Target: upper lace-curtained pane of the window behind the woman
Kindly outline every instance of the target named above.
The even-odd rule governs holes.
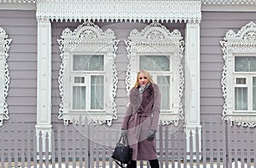
[[[140,69],[148,71],[170,71],[170,59],[166,55],[141,55]]]

